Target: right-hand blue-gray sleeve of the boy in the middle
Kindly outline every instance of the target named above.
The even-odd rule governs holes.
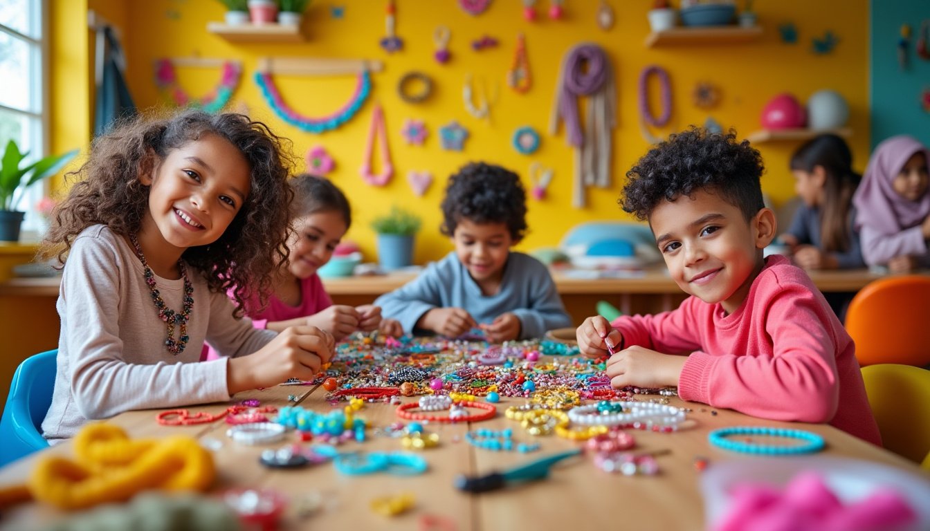
[[[549,269],[530,257],[522,265],[529,305],[513,311],[520,319],[520,339],[541,338],[546,330],[571,326],[571,317],[565,312]]]

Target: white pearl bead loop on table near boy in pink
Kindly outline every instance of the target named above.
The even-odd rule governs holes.
[[[684,421],[684,410],[671,405],[652,402],[617,402],[619,413],[600,413],[603,405],[581,405],[568,411],[573,424],[581,426],[618,426],[636,430],[670,432],[677,431]],[[598,413],[594,413],[598,412]]]

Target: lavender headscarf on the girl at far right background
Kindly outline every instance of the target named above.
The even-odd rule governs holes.
[[[930,152],[911,137],[900,135],[875,147],[862,177],[853,204],[856,205],[856,228],[868,226],[883,234],[901,232],[923,222],[930,214],[930,192],[918,201],[908,201],[891,187],[891,181],[914,153],[923,153],[930,164]]]

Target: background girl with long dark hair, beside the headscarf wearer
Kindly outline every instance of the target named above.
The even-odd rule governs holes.
[[[794,263],[804,269],[865,267],[859,235],[853,229],[853,192],[862,177],[853,171],[853,154],[844,139],[820,135],[791,156],[794,192],[801,205],[791,226],[778,239],[791,247]]]

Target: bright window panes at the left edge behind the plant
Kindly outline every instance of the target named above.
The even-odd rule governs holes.
[[[47,153],[45,4],[45,0],[0,0],[0,153],[14,139],[23,153],[30,153],[29,161]],[[35,205],[47,186],[47,181],[34,184],[16,206],[26,211],[23,241],[38,239],[45,228]]]

